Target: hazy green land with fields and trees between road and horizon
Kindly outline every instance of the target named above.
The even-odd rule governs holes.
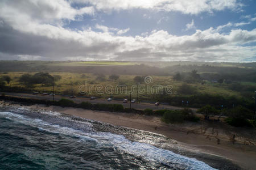
[[[126,85],[130,91],[134,84],[143,83],[143,75],[150,75],[152,82],[143,85],[149,85],[150,90],[152,86],[160,85],[164,92],[143,92],[139,94],[141,101],[196,108],[209,104],[216,109],[221,105],[224,109],[238,105],[250,111],[254,109],[252,96],[256,90],[256,63],[0,61],[0,71],[0,89],[3,92],[51,92],[55,83],[55,94],[71,95],[73,82],[73,95],[111,95],[123,99],[130,94],[99,95],[95,87],[105,89],[108,85]],[[79,94],[79,87],[85,82],[93,87],[92,91]],[[172,86],[171,94],[166,93],[167,86]],[[131,97],[136,96],[137,88],[131,94]],[[163,116],[165,111],[146,112]]]

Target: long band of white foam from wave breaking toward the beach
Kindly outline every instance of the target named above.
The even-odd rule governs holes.
[[[56,115],[56,114],[55,114]],[[0,116],[12,118],[14,121],[18,121],[22,124],[27,124],[38,128],[40,131],[49,131],[51,133],[59,133],[69,135],[71,137],[78,137],[78,142],[93,141],[100,147],[101,145],[111,145],[117,147],[119,150],[141,157],[148,161],[159,162],[162,164],[173,167],[185,167],[185,169],[214,169],[208,164],[201,162],[193,158],[187,158],[175,154],[169,150],[163,150],[161,148],[140,142],[132,142],[126,139],[123,135],[117,135],[113,133],[104,132],[84,132],[60,125],[52,125],[39,119],[30,119],[20,114],[11,112],[0,112]]]

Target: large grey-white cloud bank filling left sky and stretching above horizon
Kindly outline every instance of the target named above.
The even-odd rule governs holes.
[[[119,29],[96,24],[94,28],[100,30],[99,32],[94,31],[94,28],[72,30],[63,27],[65,20],[77,20],[82,15],[93,15],[92,11],[85,10],[87,7],[73,8],[67,1],[60,0],[20,0],[16,2],[18,5],[15,5],[15,2],[0,2],[0,59],[110,58],[234,62],[256,56],[256,47],[247,46],[256,42],[256,29],[246,31],[236,28],[221,33],[223,28],[236,27],[232,23],[217,28],[197,29],[192,35],[185,36],[175,36],[162,29],[143,33],[143,36],[123,36],[130,28]],[[148,6],[150,2],[148,1]],[[152,1],[159,2],[160,0]],[[183,3],[185,2],[187,1]],[[208,3],[213,2],[215,1]],[[35,4],[39,3],[43,3],[40,9],[35,7]],[[119,4],[118,1],[115,3]],[[52,10],[54,7],[56,10]],[[40,15],[35,14],[36,10]],[[195,24],[192,20],[188,28],[193,25]]]

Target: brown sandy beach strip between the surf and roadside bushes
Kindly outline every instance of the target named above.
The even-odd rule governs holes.
[[[199,155],[208,154],[217,156],[220,159],[225,158],[232,161],[234,164],[239,165],[243,169],[253,169],[256,166],[255,146],[246,146],[241,144],[232,145],[232,143],[226,141],[221,141],[221,144],[217,145],[217,142],[213,137],[209,140],[208,138],[205,138],[205,135],[188,133],[188,129],[195,126],[193,123],[187,123],[186,125],[167,125],[161,122],[159,117],[144,116],[135,113],[92,111],[79,108],[62,108],[58,106],[47,107],[45,105],[31,105],[25,107],[56,111],[68,114],[69,116],[86,118],[114,126],[133,128],[149,131],[155,134],[161,134],[172,139],[172,143],[174,143],[174,145],[191,151],[192,153],[196,152]],[[189,154],[187,155],[189,157]],[[184,156],[187,155],[185,154]],[[193,158],[194,155],[191,154],[190,156]],[[204,155],[201,156],[204,157]]]

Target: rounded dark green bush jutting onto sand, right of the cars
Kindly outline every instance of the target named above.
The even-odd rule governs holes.
[[[180,111],[166,111],[162,117],[162,121],[169,123],[174,122],[183,122],[184,121],[184,114],[182,114]]]

